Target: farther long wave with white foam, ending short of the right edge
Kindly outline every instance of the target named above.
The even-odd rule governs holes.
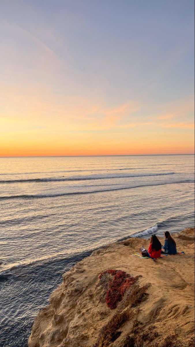
[[[58,178],[28,178],[28,179],[13,179],[0,180],[0,183],[24,183],[24,182],[56,182],[56,181],[80,181],[91,179],[109,179],[109,178],[125,178],[125,177],[147,177],[147,176],[164,176],[173,175],[175,172],[151,173],[151,174],[105,174],[105,175],[89,175],[89,176],[73,176],[73,177],[58,177]]]

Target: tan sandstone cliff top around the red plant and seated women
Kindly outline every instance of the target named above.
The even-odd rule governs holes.
[[[194,346],[194,228],[174,238],[184,255],[141,259],[132,254],[149,240],[130,238],[77,263],[38,313],[29,347]],[[98,285],[99,274],[108,269],[142,276],[114,310]],[[147,283],[147,294],[137,300]]]

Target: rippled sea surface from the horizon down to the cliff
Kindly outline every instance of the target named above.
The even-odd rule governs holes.
[[[0,158],[0,346],[93,249],[192,226],[194,155]]]

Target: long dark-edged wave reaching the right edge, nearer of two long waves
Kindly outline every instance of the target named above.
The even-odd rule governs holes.
[[[151,183],[151,184],[143,184],[139,186],[131,186],[131,187],[118,187],[118,188],[111,188],[111,189],[98,189],[94,191],[89,192],[71,192],[71,193],[60,193],[60,194],[22,194],[22,195],[7,195],[7,196],[0,196],[0,200],[3,199],[14,199],[14,198],[44,198],[44,197],[56,197],[56,196],[64,196],[64,195],[76,195],[76,194],[91,194],[91,193],[100,193],[100,192],[109,192],[109,191],[118,191],[121,189],[131,189],[131,188],[141,188],[141,187],[148,187],[148,186],[162,186],[165,184],[181,184],[181,183],[194,183],[194,180],[185,180],[185,181],[175,181],[175,182],[163,182],[163,183]]]

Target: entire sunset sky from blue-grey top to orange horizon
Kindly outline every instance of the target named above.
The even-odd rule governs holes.
[[[194,153],[194,1],[1,0],[0,156]]]

